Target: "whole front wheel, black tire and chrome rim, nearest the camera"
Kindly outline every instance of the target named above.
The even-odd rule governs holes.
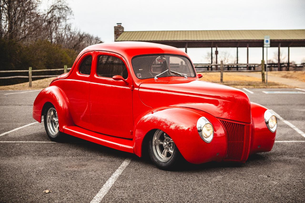
[[[162,130],[156,130],[149,138],[149,156],[163,170],[175,169],[183,159],[174,141]]]

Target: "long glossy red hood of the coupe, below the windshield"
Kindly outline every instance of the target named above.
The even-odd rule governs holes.
[[[251,123],[248,96],[239,89],[194,78],[170,78],[144,82],[141,101],[152,108],[180,106],[208,112],[215,117]]]

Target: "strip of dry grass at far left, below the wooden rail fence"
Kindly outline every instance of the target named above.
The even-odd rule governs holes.
[[[14,85],[0,86],[0,90],[40,90],[48,87],[54,78],[55,77],[34,80],[32,81],[32,87],[29,87],[29,82],[26,82]]]

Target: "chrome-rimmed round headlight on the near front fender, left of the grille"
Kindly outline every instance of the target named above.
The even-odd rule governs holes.
[[[210,143],[213,139],[214,135],[214,129],[213,125],[210,123],[206,117],[201,117],[197,121],[197,130],[199,133],[199,136],[203,141],[206,143]]]

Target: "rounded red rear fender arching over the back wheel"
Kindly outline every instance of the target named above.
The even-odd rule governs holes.
[[[66,126],[74,125],[68,108],[68,101],[63,91],[57,86],[49,86],[43,89],[36,97],[33,105],[33,118],[41,123],[43,107],[50,102],[54,105],[59,120],[59,131],[63,132]]]

